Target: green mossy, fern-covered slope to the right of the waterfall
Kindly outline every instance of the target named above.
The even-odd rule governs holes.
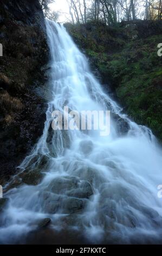
[[[121,22],[115,27],[91,22],[66,27],[129,116],[150,127],[162,141],[162,57],[157,54],[162,21]]]

